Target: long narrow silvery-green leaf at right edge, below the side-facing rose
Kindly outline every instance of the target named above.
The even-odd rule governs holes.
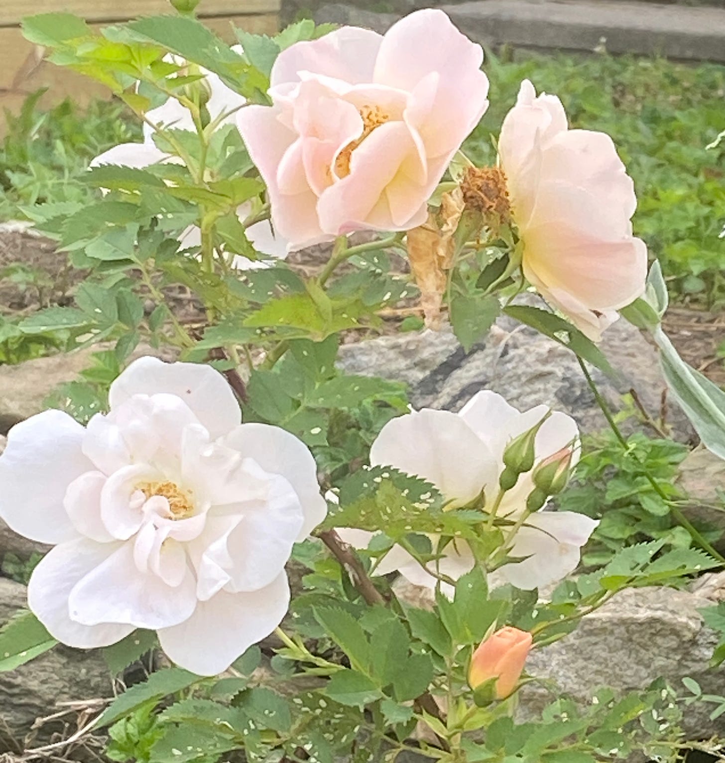
[[[682,360],[660,327],[653,337],[660,350],[669,391],[687,414],[703,445],[725,459],[725,392]]]

